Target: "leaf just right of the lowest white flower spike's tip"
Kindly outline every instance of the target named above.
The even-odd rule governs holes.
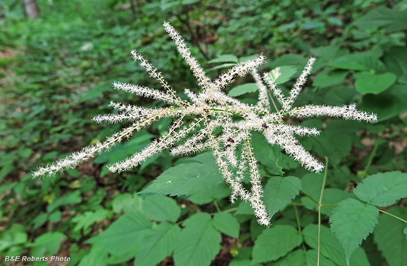
[[[301,189],[301,180],[295,176],[273,176],[264,188],[264,201],[270,217],[292,201]]]

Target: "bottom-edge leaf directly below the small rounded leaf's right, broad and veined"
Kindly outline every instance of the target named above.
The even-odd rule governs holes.
[[[207,266],[218,254],[222,238],[208,213],[198,213],[184,222],[185,228],[174,251],[177,266]]]

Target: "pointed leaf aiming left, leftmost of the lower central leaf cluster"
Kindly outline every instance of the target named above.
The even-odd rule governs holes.
[[[114,255],[124,255],[142,244],[144,233],[152,226],[153,223],[144,214],[129,212],[86,243],[98,244]]]

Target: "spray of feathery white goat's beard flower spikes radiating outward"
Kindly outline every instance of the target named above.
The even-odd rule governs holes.
[[[319,131],[315,128],[288,125],[282,120],[284,116],[310,117],[325,115],[342,119],[377,122],[375,114],[358,111],[355,105],[304,105],[293,108],[293,104],[315,62],[313,57],[309,59],[305,69],[290,91],[289,96],[285,97],[267,73],[263,75],[263,80],[258,74],[257,68],[265,61],[263,55],[258,55],[254,60],[248,60],[232,67],[212,81],[207,77],[196,59],[191,56],[191,52],[181,35],[168,22],[164,22],[164,28],[177,45],[181,56],[190,66],[202,90],[198,94],[185,90],[189,101],[183,100],[167,83],[157,68],[152,66],[136,50],[132,50],[130,53],[134,61],[139,62],[140,67],[146,70],[150,77],[160,82],[165,91],[153,90],[149,87],[119,81],[115,81],[113,87],[116,90],[163,101],[169,107],[146,108],[110,102],[110,106],[120,112],[99,114],[93,120],[97,123],[119,123],[128,120],[132,122],[129,127],[107,137],[103,142],[86,146],[81,151],[75,152],[65,159],[57,160],[45,167],[39,167],[33,173],[34,177],[50,176],[65,169],[74,168],[95,157],[100,152],[109,150],[115,143],[121,142],[124,138],[130,138],[134,131],[148,127],[162,117],[176,117],[165,134],[152,141],[133,156],[109,165],[108,169],[111,172],[128,170],[163,150],[169,150],[172,156],[179,156],[211,149],[219,170],[226,184],[231,189],[230,201],[234,202],[238,197],[245,201],[248,200],[254,209],[258,223],[269,226],[270,217],[261,199],[263,197],[261,176],[251,146],[252,131],[263,133],[270,144],[279,145],[289,156],[299,161],[306,169],[319,172],[324,168],[324,165],[308,153],[295,137],[295,135],[315,136],[319,134]],[[243,77],[248,73],[253,76],[259,91],[258,101],[255,105],[242,103],[237,99],[226,96],[221,91],[223,87],[233,82],[236,76]],[[269,88],[267,88],[265,83]],[[274,94],[281,105],[280,110],[277,109],[273,102],[276,111],[272,111],[270,100],[273,99],[269,98],[268,90]],[[186,123],[186,117],[191,116],[194,117],[192,122]],[[215,129],[218,127],[221,127],[223,131],[221,134],[215,135]],[[239,155],[237,155],[238,145],[241,145]],[[250,191],[242,184],[244,172],[247,171],[247,168],[250,172]]]

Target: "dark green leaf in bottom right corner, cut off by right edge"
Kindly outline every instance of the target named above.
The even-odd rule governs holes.
[[[395,207],[387,210],[387,212],[407,220],[406,208]],[[405,266],[406,264],[407,239],[406,235],[403,234],[404,227],[404,222],[390,215],[382,214],[379,217],[379,224],[374,229],[374,242],[390,266]],[[407,228],[404,228],[404,233],[407,234]]]

